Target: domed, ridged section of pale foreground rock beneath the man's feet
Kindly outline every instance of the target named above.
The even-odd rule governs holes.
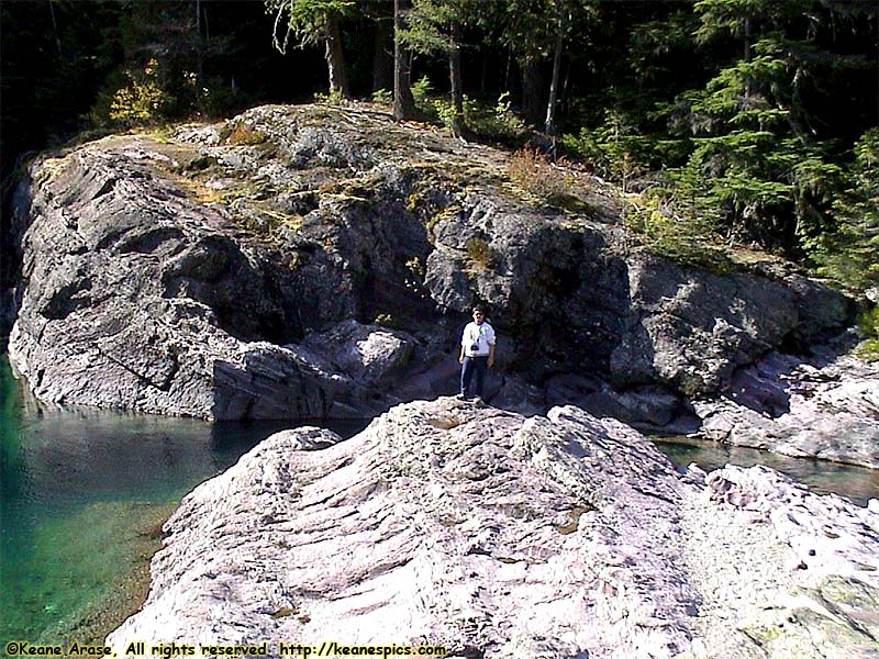
[[[636,433],[574,407],[526,420],[446,399],[298,450],[316,434],[276,435],[186,498],[149,601],[113,644],[344,637],[532,658],[686,647],[681,485]]]

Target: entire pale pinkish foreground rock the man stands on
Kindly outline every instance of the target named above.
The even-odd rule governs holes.
[[[108,643],[875,656],[879,502],[759,468],[706,482],[572,406],[438,399],[346,442],[285,431],[183,500],[146,604]]]

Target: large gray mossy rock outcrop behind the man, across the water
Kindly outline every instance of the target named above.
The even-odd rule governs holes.
[[[454,391],[480,301],[507,406],[659,427],[850,323],[848,299],[788,266],[633,249],[611,188],[569,172],[574,210],[547,208],[508,163],[367,107],[256,108],[45,158],[18,197],[12,362],[55,402],[371,416]]]

